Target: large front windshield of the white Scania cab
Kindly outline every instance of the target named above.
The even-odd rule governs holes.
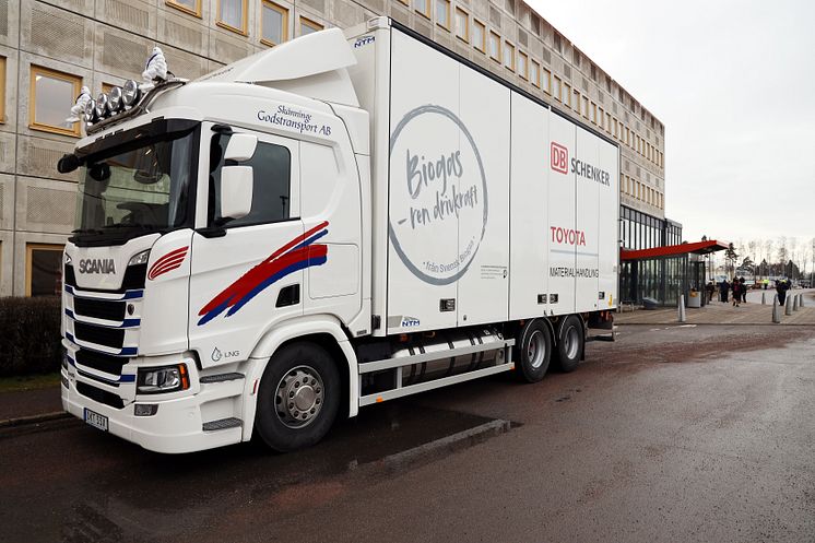
[[[187,226],[198,131],[132,140],[88,156],[80,173],[74,241],[125,243]]]

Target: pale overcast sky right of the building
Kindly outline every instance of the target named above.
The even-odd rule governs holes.
[[[815,237],[815,2],[528,0],[665,125],[683,237]]]

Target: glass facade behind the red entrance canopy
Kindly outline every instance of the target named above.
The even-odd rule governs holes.
[[[682,225],[622,205],[619,209],[619,239],[628,250],[652,249],[682,244]],[[641,304],[653,298],[673,305],[680,294],[686,294],[687,255],[623,261],[619,264],[619,296],[623,303]]]

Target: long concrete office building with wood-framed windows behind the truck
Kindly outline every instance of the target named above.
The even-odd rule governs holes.
[[[0,296],[59,291],[58,251],[73,226],[76,174],[60,175],[55,165],[80,137],[79,123],[63,119],[82,85],[96,96],[140,80],[156,44],[174,73],[193,79],[376,15],[618,142],[624,244],[668,241],[675,226],[664,217],[663,125],[520,0],[0,0]]]

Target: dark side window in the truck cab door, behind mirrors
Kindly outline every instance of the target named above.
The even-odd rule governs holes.
[[[226,149],[231,134],[217,134],[213,137],[222,150]],[[249,214],[226,223],[227,228],[237,226],[249,226],[253,224],[268,224],[291,219],[288,201],[292,185],[292,153],[283,145],[258,142],[252,157],[241,162],[243,166],[252,167],[255,175],[252,189],[252,208]],[[214,221],[217,223],[217,210],[221,209],[221,168],[224,166],[223,154],[212,173],[212,182],[215,187]]]

